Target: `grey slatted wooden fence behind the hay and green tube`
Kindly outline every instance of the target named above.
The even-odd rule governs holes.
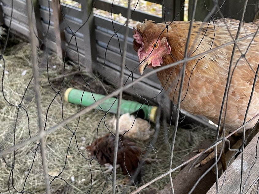
[[[120,44],[123,42],[125,26],[116,21],[113,21],[112,24],[110,19],[91,13],[92,1],[76,0],[81,4],[81,9],[64,3],[61,3],[61,7],[59,7],[58,0],[33,0],[32,2],[35,10],[35,32],[40,39],[44,40],[43,43],[46,47],[57,52],[60,57],[64,57],[64,51],[66,51],[66,57],[75,64],[79,63],[86,71],[91,71],[92,68],[96,69],[104,76],[105,80],[114,86],[117,85],[121,64],[119,42]],[[151,2],[162,4],[161,0],[151,0]],[[182,5],[183,0],[164,0],[162,10],[166,20],[173,20],[175,15],[177,15],[177,20],[182,20]],[[1,7],[4,24],[10,26],[13,32],[30,37],[25,0],[13,0],[13,7],[12,1],[1,0]],[[96,0],[94,7],[111,12],[112,4],[103,0]],[[121,13],[122,16],[125,16],[126,10],[126,7],[115,4],[112,7],[113,13]],[[145,18],[156,22],[164,21],[162,17],[139,10],[134,12],[132,10],[132,13],[131,18],[136,21],[143,21]],[[113,26],[118,38],[113,36],[115,33]],[[128,38],[126,65],[131,71],[137,67],[138,58],[132,46],[132,27],[129,28],[131,30]],[[46,38],[44,39],[44,37]],[[108,42],[109,47],[107,48]],[[65,48],[67,49],[65,50]],[[131,74],[130,71],[125,72],[125,80]],[[136,69],[133,73],[134,80],[138,78],[139,72]],[[138,95],[152,98],[159,94],[160,89],[161,86],[156,76],[153,76],[136,84],[135,91],[131,88],[126,92],[135,96],[137,96],[137,92]],[[150,94],[152,95],[150,96]],[[155,99],[155,101],[157,100]]]

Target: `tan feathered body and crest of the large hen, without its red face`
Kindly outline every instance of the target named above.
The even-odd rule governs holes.
[[[146,60],[143,57],[143,52],[147,53],[145,57],[150,54],[150,51],[148,51],[150,43],[156,42],[158,39],[161,40],[163,37],[167,37],[171,54],[162,56],[161,66],[182,60],[184,58],[189,24],[189,22],[174,21],[169,24],[168,32],[165,29],[165,23],[154,24],[151,21],[145,21],[145,23],[137,25],[138,32],[135,31],[135,35],[139,33],[143,37],[141,40],[143,41],[142,45],[139,42],[137,43],[137,38],[134,37],[134,49],[138,51],[143,47],[143,51],[138,52],[138,54],[142,52],[142,54],[139,54],[139,61]],[[238,30],[238,24],[239,21],[234,19],[215,20],[214,24],[212,22],[210,24],[194,22],[188,55],[192,57],[233,41]],[[239,38],[257,32],[258,25],[259,22],[244,23]],[[162,46],[162,41],[160,46]],[[184,110],[193,114],[204,115],[211,121],[218,123],[233,46],[234,44],[230,44],[187,62],[181,95],[181,107]],[[152,49],[152,52],[156,52],[155,49]],[[232,78],[227,97],[226,120],[224,122],[225,127],[230,131],[243,125],[258,63],[259,35],[256,34],[255,37],[252,35],[239,41],[234,53],[231,69]],[[154,68],[157,68],[157,66]],[[178,99],[179,72],[181,68],[182,64],[157,73],[162,86],[165,86],[170,99],[175,104],[177,104]],[[257,79],[247,121],[259,113],[258,93],[259,84]],[[226,103],[224,113],[225,110]],[[257,119],[254,119],[246,125],[246,129],[252,128],[256,122]]]

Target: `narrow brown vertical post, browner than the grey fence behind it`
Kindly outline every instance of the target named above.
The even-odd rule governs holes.
[[[53,21],[56,36],[57,54],[59,58],[64,59],[65,51],[65,32],[63,26],[63,17],[61,14],[61,8],[59,5],[59,0],[52,0],[53,9]]]

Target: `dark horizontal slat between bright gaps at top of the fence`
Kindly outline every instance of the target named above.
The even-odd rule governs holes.
[[[127,7],[119,6],[119,5],[115,5],[115,4],[113,4],[113,6],[112,6],[111,3],[106,2],[104,0],[96,0],[94,7],[97,9],[102,9],[102,10],[109,11],[109,12],[111,12],[111,10],[112,10],[112,13],[116,13],[116,14],[121,13],[121,15],[124,17],[126,17],[126,13],[127,13]],[[133,13],[132,9],[131,9],[131,13]],[[150,15],[148,13],[144,13],[139,10],[135,10],[131,16],[131,19],[135,20],[135,21],[143,21],[146,18],[156,21],[156,22],[161,22],[163,20],[161,17],[155,16],[155,15]]]

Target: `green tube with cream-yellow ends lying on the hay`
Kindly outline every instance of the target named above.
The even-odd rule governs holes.
[[[64,94],[65,101],[73,104],[81,104],[82,106],[90,106],[96,101],[105,97],[104,95],[95,94],[87,91],[82,91],[74,88],[68,88]],[[82,99],[82,102],[81,102]],[[118,99],[109,98],[101,103],[96,108],[99,110],[104,110],[105,112],[117,113]],[[135,113],[139,111],[139,114],[143,113],[143,119],[150,119],[150,121],[155,122],[157,106],[148,106],[146,104],[141,104],[135,101],[123,100],[121,102],[120,114],[125,113]]]

